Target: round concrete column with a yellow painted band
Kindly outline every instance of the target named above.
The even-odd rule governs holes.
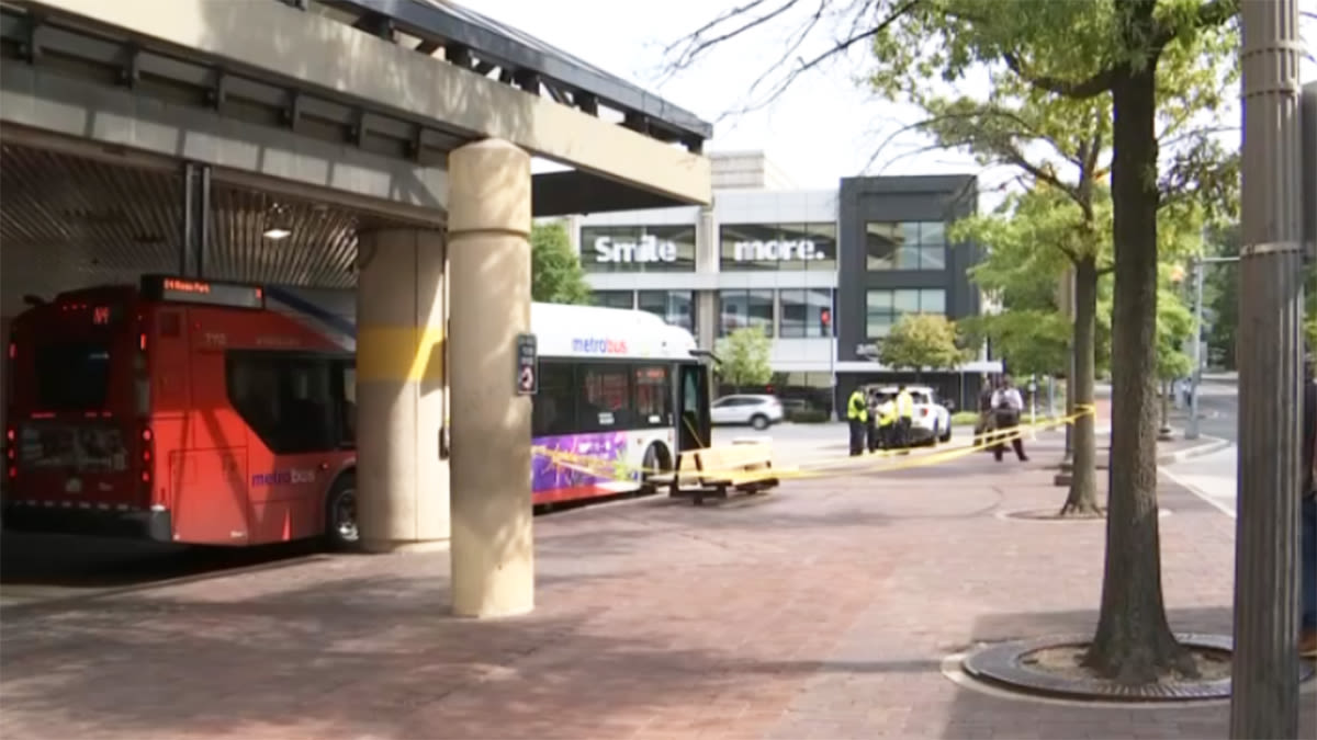
[[[360,234],[357,515],[370,552],[446,546],[444,234]]]

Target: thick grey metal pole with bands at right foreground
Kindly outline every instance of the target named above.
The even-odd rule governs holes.
[[[1297,0],[1241,3],[1243,242],[1230,737],[1299,736],[1303,253]]]

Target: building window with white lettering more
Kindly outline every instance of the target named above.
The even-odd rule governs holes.
[[[836,224],[727,224],[723,270],[836,270]]]

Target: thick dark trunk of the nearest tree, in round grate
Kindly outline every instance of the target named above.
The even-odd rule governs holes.
[[[1138,0],[1125,42],[1152,36],[1156,0]],[[1112,483],[1106,570],[1097,633],[1085,664],[1121,683],[1155,681],[1195,665],[1179,645],[1162,598],[1156,503],[1156,58],[1126,65],[1112,86],[1115,295],[1112,315]]]

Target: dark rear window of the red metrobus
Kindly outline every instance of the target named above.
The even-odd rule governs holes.
[[[87,411],[105,407],[109,394],[109,342],[58,341],[34,348],[37,408]]]

